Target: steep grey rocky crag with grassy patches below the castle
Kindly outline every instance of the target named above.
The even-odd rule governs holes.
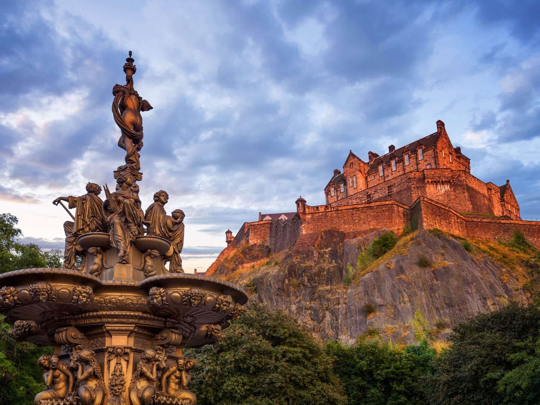
[[[526,242],[465,240],[431,230],[409,233],[382,257],[369,257],[384,232],[302,235],[279,254],[242,245],[212,275],[241,285],[252,301],[284,309],[318,338],[346,343],[361,335],[444,342],[457,322],[530,299],[530,267],[537,264]]]

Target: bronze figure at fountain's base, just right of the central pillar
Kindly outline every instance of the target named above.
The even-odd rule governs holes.
[[[158,363],[161,355],[152,349],[144,349],[130,384],[130,401],[132,405],[151,405],[158,380]]]

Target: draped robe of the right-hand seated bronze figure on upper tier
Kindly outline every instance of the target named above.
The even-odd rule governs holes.
[[[184,222],[179,224],[170,215],[167,215],[163,205],[156,201],[148,208],[144,215],[145,220],[151,223],[152,234],[161,238],[165,238],[171,242],[171,254],[167,255],[171,258],[170,271],[171,273],[184,273],[182,269],[182,259],[180,253],[184,247]]]

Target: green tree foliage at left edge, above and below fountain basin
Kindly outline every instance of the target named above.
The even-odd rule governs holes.
[[[0,272],[62,267],[62,257],[57,251],[43,252],[37,245],[18,242],[22,232],[16,225],[14,215],[0,214]],[[52,353],[52,348],[12,340],[8,335],[11,326],[3,321],[0,316],[0,403],[32,404],[33,397],[45,387],[37,359]]]

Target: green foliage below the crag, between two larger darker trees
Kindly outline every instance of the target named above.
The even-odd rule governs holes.
[[[424,404],[422,376],[429,373],[435,350],[427,341],[405,350],[379,339],[354,346],[329,342],[326,352],[345,387],[349,404]]]

